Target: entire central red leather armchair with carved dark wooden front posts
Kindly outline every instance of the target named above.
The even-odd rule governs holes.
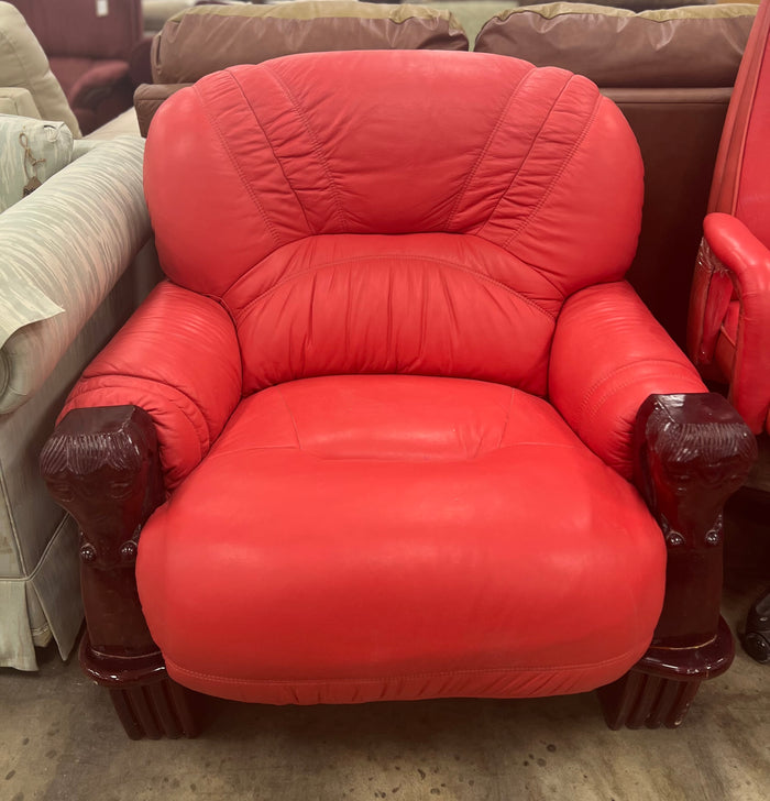
[[[733,656],[721,509],[756,443],[623,281],[641,161],[595,85],[234,67],[164,103],[145,190],[167,281],[42,454],[131,736],[191,734],[187,689],[603,688],[610,726],[681,723]]]

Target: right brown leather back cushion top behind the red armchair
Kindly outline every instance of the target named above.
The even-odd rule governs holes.
[[[601,87],[729,87],[751,30],[752,4],[634,13],[587,3],[510,9],[481,30],[474,50],[585,75]]]

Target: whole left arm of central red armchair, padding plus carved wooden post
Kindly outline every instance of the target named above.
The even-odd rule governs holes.
[[[80,665],[109,689],[133,738],[196,732],[186,691],[167,677],[144,621],[134,567],[145,520],[202,459],[240,396],[227,311],[164,282],[85,371],[41,453],[51,494],[80,530]]]

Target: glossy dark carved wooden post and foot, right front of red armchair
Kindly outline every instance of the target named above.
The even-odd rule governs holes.
[[[635,482],[668,549],[666,599],[650,649],[600,698],[612,728],[675,727],[701,682],[733,661],[719,615],[723,508],[757,443],[721,395],[651,395],[637,415],[634,449]]]

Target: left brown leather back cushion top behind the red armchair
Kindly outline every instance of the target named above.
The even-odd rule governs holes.
[[[190,84],[235,64],[338,50],[459,50],[468,36],[449,11],[324,0],[198,6],[166,22],[152,47],[156,84]]]

